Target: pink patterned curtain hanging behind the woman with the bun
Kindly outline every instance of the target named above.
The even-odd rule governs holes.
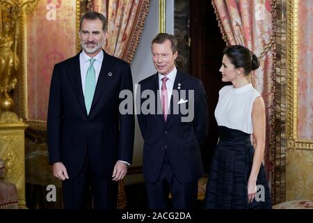
[[[271,0],[212,0],[220,31],[227,45],[243,45],[259,57],[260,67],[250,81],[262,93],[266,105],[266,153],[268,183],[271,185],[275,144],[275,76],[273,10]]]

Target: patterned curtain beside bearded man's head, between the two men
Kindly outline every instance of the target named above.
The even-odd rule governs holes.
[[[104,43],[108,54],[131,63],[138,46],[150,0],[99,0],[95,10],[108,21],[109,38]]]

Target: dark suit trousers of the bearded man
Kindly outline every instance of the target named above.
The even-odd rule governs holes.
[[[73,157],[74,159],[75,157]],[[62,181],[63,204],[66,209],[87,208],[89,185],[92,185],[93,205],[97,209],[116,209],[118,183],[95,176],[88,152],[79,175]]]

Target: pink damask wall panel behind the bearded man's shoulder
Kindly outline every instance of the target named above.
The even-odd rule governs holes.
[[[28,120],[45,121],[54,64],[76,54],[75,1],[39,1],[26,17]]]

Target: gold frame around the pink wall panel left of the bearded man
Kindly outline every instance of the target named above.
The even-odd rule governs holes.
[[[76,6],[76,51],[79,52],[80,44],[79,44],[79,20],[81,16],[81,1],[80,0],[72,0],[75,1]],[[45,120],[33,120],[29,118],[29,103],[28,103],[28,82],[27,82],[27,30],[26,30],[26,14],[23,13],[22,21],[20,26],[20,33],[22,33],[20,38],[20,56],[21,56],[21,75],[19,77],[19,116],[24,119],[24,121],[29,125],[30,128],[37,130],[46,130],[47,122]]]

